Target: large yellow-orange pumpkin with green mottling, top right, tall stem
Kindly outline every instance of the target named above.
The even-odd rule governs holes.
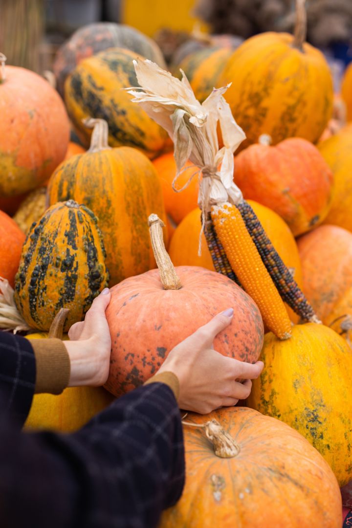
[[[303,52],[288,33],[262,33],[230,57],[219,80],[232,82],[225,98],[247,141],[269,134],[277,144],[289,137],[318,141],[331,115],[334,92],[324,55],[310,44]]]

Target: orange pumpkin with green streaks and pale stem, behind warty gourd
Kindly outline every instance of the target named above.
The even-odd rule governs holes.
[[[96,213],[113,286],[154,268],[146,219],[156,211],[166,220],[163,196],[146,156],[134,148],[110,148],[106,121],[94,119],[89,124],[94,126],[90,149],[56,169],[48,193],[51,204],[73,199]]]

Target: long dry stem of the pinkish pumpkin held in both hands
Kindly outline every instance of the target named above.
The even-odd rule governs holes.
[[[163,227],[165,227],[165,224],[157,214],[150,214],[148,225],[151,247],[160,272],[161,284],[163,284],[164,290],[179,290],[182,288],[181,281],[165,249],[163,239]]]

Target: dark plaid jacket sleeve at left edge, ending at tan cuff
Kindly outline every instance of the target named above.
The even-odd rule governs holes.
[[[33,348],[24,337],[0,331],[0,417],[9,414],[23,425],[30,411],[35,386]]]

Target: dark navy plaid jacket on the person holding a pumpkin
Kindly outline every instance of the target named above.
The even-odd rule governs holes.
[[[70,435],[24,433],[34,384],[30,342],[0,332],[0,526],[156,526],[184,485],[172,390],[142,386]]]

